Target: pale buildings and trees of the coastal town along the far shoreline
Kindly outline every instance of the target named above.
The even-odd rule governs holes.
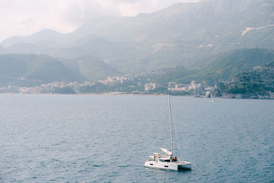
[[[25,78],[20,78],[25,80]],[[16,86],[10,84],[0,88],[0,93],[60,93],[60,94],[82,94],[82,93],[117,93],[117,94],[171,94],[192,95],[195,97],[210,97],[213,87],[205,87],[192,81],[190,84],[169,82],[168,85],[151,82],[150,79],[138,75],[123,75],[108,77],[98,82],[51,82],[39,86]]]

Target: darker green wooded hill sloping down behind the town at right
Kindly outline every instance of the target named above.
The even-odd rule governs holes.
[[[236,49],[218,53],[199,60],[199,67],[177,66],[157,75],[155,82],[190,83],[192,80],[214,86],[218,82],[230,82],[235,75],[249,71],[253,66],[274,60],[274,51],[268,49]]]

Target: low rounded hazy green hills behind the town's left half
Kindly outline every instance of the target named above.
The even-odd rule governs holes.
[[[0,85],[37,86],[50,82],[97,82],[108,76],[121,75],[99,58],[81,56],[75,59],[47,55],[0,55]]]

